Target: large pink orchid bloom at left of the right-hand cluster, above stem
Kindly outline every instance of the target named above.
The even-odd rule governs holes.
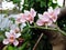
[[[44,12],[43,14],[38,14],[38,20],[36,21],[37,26],[51,26],[52,20],[50,20],[50,16],[47,12]]]

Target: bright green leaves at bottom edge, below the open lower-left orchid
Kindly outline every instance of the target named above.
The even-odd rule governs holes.
[[[24,42],[21,47],[6,46],[3,50],[26,50],[29,41]]]

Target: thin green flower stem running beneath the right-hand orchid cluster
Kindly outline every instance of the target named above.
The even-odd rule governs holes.
[[[34,27],[30,26],[30,28],[59,31],[62,34],[66,36],[66,32],[61,30],[58,27],[56,27],[56,29],[53,29],[53,28],[45,28],[45,27],[38,27],[38,26],[34,26]]]

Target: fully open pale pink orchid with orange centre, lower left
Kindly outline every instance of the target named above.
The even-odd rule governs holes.
[[[19,41],[16,40],[16,38],[19,38],[20,36],[21,33],[15,33],[15,31],[13,30],[10,30],[10,32],[6,32],[7,39],[3,40],[3,44],[13,43],[14,46],[18,46]]]

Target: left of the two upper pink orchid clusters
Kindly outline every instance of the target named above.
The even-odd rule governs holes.
[[[36,12],[34,9],[31,8],[30,11],[24,10],[24,13],[20,13],[20,16],[18,17],[16,22],[23,23],[29,21],[30,23],[32,23],[34,21],[35,16],[36,16]]]

